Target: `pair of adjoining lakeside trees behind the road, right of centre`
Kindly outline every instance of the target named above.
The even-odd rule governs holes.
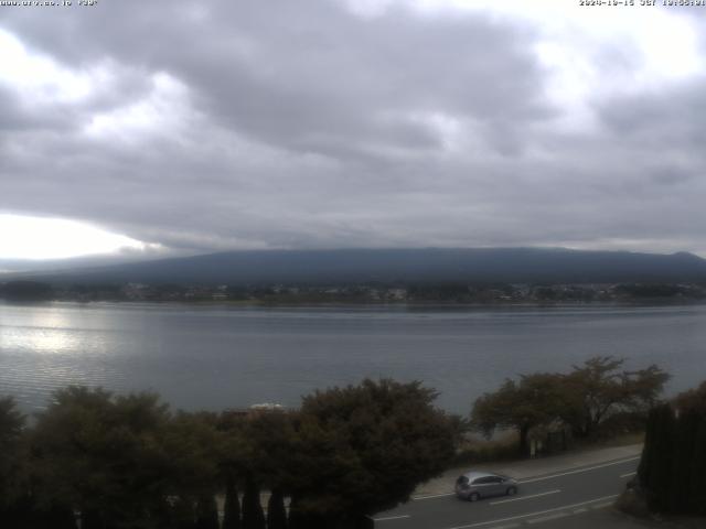
[[[490,436],[496,429],[517,432],[520,455],[530,455],[535,429],[567,429],[574,438],[610,436],[619,428],[642,430],[659,402],[668,375],[655,365],[622,369],[623,359],[589,358],[568,374],[536,373],[506,379],[478,398],[471,425]]]

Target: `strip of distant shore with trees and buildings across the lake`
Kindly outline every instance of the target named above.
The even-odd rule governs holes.
[[[317,303],[656,303],[698,302],[704,284],[617,283],[483,283],[483,282],[351,282],[332,284],[189,284],[189,283],[63,283],[9,281],[0,283],[0,299],[9,301],[165,301],[263,304]]]

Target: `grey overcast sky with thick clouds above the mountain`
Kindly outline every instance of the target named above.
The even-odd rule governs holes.
[[[703,7],[578,0],[0,7],[0,214],[163,251],[706,256],[705,39]]]

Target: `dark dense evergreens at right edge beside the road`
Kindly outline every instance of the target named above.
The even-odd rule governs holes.
[[[637,485],[651,511],[706,515],[706,382],[651,411]]]

